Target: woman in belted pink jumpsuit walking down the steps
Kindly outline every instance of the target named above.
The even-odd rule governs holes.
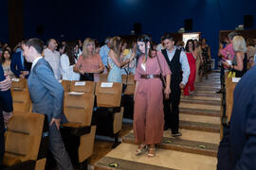
[[[151,38],[142,35],[137,39],[137,49],[140,53],[137,60],[135,80],[135,113],[134,131],[136,137],[137,155],[149,145],[148,157],[155,156],[155,144],[162,141],[164,113],[163,93],[160,74],[166,76],[164,93],[171,93],[171,71],[161,52],[152,56]]]

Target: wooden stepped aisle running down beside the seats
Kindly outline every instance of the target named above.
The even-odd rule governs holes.
[[[173,138],[170,129],[164,131],[161,144],[157,144],[156,155],[148,159],[136,156],[132,124],[123,124],[122,143],[112,149],[112,141],[96,140],[94,153],[89,159],[92,169],[216,169],[216,154],[220,142],[220,89],[219,73],[197,84],[197,92],[190,97],[181,96],[180,132]],[[117,168],[111,168],[111,164]]]

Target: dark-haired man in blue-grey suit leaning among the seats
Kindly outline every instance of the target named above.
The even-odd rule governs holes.
[[[47,115],[49,123],[49,149],[57,161],[60,170],[72,170],[73,166],[65,150],[59,130],[64,121],[64,89],[55,79],[49,63],[43,59],[44,43],[39,39],[29,39],[24,44],[24,55],[32,62],[27,85],[32,101],[33,112]]]

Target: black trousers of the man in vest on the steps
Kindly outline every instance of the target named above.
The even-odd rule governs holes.
[[[169,99],[164,100],[164,121],[165,127],[171,128],[172,133],[177,133],[179,127],[178,106],[180,102],[181,91],[179,86],[171,88],[171,91],[172,92],[169,96]]]

